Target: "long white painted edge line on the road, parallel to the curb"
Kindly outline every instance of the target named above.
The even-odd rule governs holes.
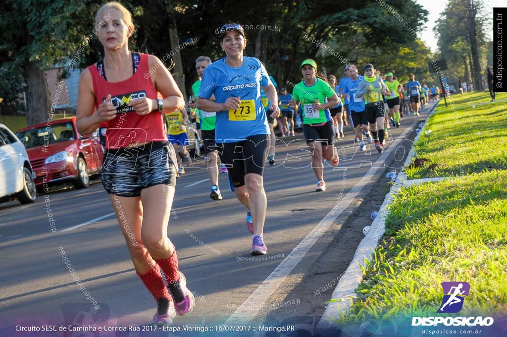
[[[400,137],[392,142],[395,143],[404,140],[411,129],[412,127],[410,126],[406,128]],[[266,280],[264,280],[264,282],[243,302],[243,304],[231,315],[231,317],[225,321],[224,325],[246,324],[261,312],[261,308],[266,304],[269,297],[276,291],[276,289],[279,288],[281,283],[285,281],[285,278],[292,272],[294,267],[301,261],[317,240],[320,239],[322,234],[327,231],[335,219],[343,211],[345,211],[347,207],[349,207],[352,200],[357,197],[363,187],[370,183],[374,177],[376,178],[377,171],[379,169],[384,169],[385,166],[382,165],[385,161],[384,158],[387,158],[391,152],[396,150],[396,147],[392,145],[394,144],[391,144],[390,147],[384,150],[383,154],[385,157],[381,156],[377,159],[365,176],[361,178],[354,187],[352,187],[347,195],[342,198],[322,220],[320,220],[318,225],[315,226],[308,235],[306,235],[299,245],[297,245],[294,250],[288,254],[282,262],[280,262]],[[256,308],[256,310],[252,310],[252,308]],[[257,310],[257,308],[259,309]]]

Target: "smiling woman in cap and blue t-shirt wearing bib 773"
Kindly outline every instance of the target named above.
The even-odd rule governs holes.
[[[267,198],[263,172],[270,130],[261,88],[269,99],[273,118],[280,114],[278,97],[261,61],[243,56],[246,46],[243,27],[238,23],[226,24],[220,30],[220,38],[227,56],[204,71],[197,108],[216,111],[215,141],[236,197],[247,209],[246,224],[254,234],[251,254],[266,254],[263,229]],[[213,94],[216,102],[209,99]],[[242,151],[235,151],[236,147]]]

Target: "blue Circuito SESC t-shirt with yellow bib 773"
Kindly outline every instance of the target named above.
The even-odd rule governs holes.
[[[218,143],[233,143],[255,134],[269,134],[266,111],[261,101],[261,86],[268,86],[269,75],[255,57],[243,57],[243,65],[232,68],[226,57],[208,65],[202,77],[199,97],[215,95],[217,103],[229,97],[240,97],[238,110],[216,112],[215,139]]]

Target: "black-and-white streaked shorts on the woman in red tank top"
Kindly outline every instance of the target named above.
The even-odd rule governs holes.
[[[134,197],[141,195],[143,188],[158,184],[176,186],[175,161],[174,148],[167,142],[152,142],[142,148],[107,149],[99,173],[107,193]]]

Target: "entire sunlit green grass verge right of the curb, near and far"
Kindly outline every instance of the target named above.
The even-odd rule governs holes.
[[[489,95],[454,97],[456,109],[441,107],[417,143],[417,157],[438,166],[406,170],[409,179],[452,178],[396,195],[358,297],[338,324],[375,331],[440,316],[446,281],[468,282],[470,293],[458,314],[445,317],[507,313],[507,104],[473,108],[470,97],[489,102]]]

